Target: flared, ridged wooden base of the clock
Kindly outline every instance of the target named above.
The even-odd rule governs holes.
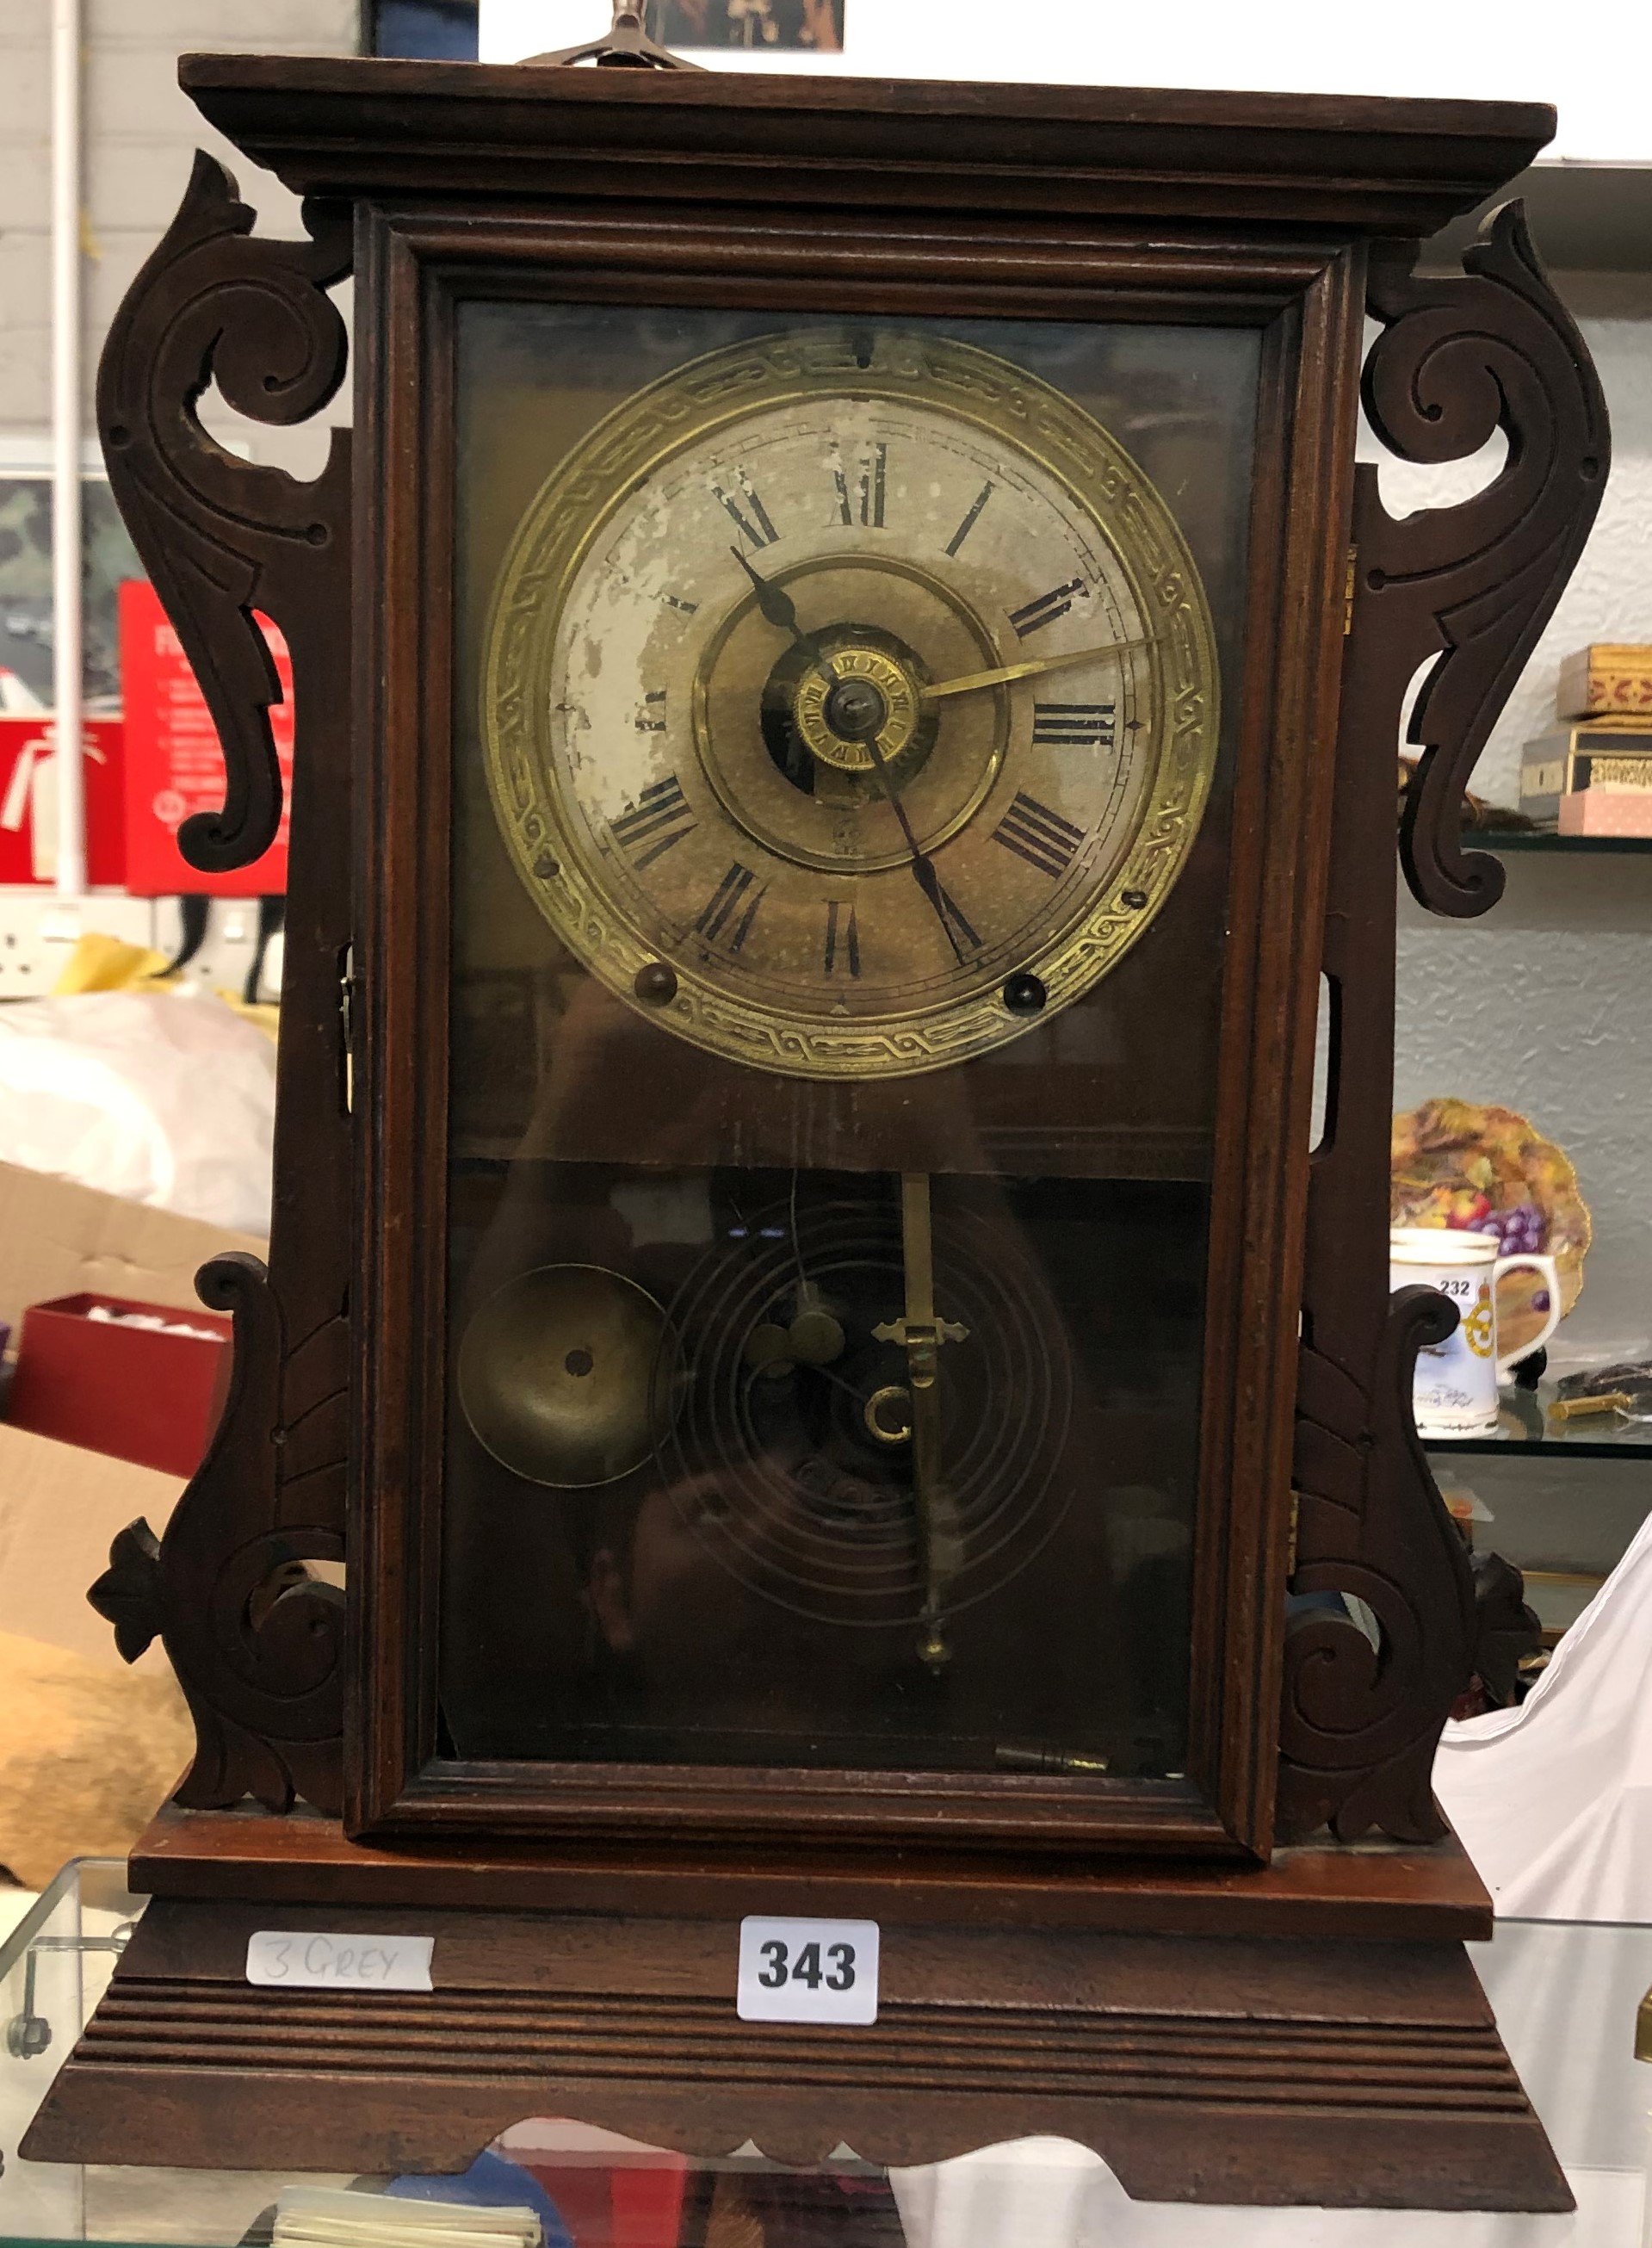
[[[135,1875],[160,1868],[175,1888],[180,1828],[214,1825],[240,1828],[238,1893],[155,1897],[29,2160],[456,2172],[510,2124],[560,2115],[697,2156],[753,2140],[793,2165],[841,2142],[897,2167],[1047,2133],[1092,2147],[1142,2201],[1571,2208],[1447,1931],[1481,1933],[1483,1902],[1450,1843],[1158,1868],[1160,1929],[1178,1933],[1144,1931],[1140,1868],[1059,1884],[1088,1893],[1088,1927],[1065,1911],[1014,1927],[915,1918],[861,1884],[883,1920],[879,2019],[802,2028],[735,2016],[751,1895],[704,1918],[420,1904],[452,1888],[456,1859],[236,1814],[173,1814]],[[245,1879],[247,1830],[281,1825],[328,1837],[306,1891],[326,1902],[292,1902],[292,1850]],[[207,1888],[214,1864],[196,1861]],[[1420,1864],[1427,1897],[1409,1895]],[[524,1859],[515,1877],[528,1873]],[[560,1873],[539,1864],[546,1888]],[[775,1886],[766,1909],[798,1909]],[[847,1909],[847,1891],[807,1886],[816,1911]],[[1265,1933],[1286,1924],[1315,1933]],[[267,1927],[434,1936],[436,1989],[252,1987],[247,1936]]]

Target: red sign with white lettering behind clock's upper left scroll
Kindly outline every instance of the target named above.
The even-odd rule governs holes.
[[[121,616],[121,701],[126,706],[126,888],[135,897],[276,897],[288,886],[288,807],[292,805],[292,656],[267,616],[258,618],[281,701],[270,733],[281,767],[281,827],[263,859],[227,874],[202,874],[178,850],[178,830],[225,800],[225,755],[207,699],[160,596],[126,578]]]

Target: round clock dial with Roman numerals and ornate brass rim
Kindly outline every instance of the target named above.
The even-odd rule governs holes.
[[[966,344],[800,333],[650,384],[553,472],[483,728],[517,870],[609,989],[737,1061],[895,1077],[1149,926],[1218,674],[1097,420]]]

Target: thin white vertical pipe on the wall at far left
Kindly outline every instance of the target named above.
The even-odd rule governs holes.
[[[85,895],[81,638],[81,0],[52,0],[52,701],[58,897]]]

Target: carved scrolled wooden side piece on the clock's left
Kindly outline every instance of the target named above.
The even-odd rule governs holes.
[[[200,425],[209,384],[240,414],[319,414],[348,339],[330,283],[351,270],[348,211],[306,205],[308,241],[252,241],[229,173],[196,157],[173,225],[133,283],[99,366],[110,486],[196,670],[225,753],[225,803],[180,830],[191,865],[249,865],[274,841],[281,688],[256,616],[288,638],[294,787],[276,1075],[276,1216],[265,1270],[220,1257],[202,1299],[234,1313],[236,1362],[211,1452],[166,1535],[115,1540],[92,1605],[133,1661],[157,1634],[196,1720],[180,1801],[342,1783],[344,1596],[306,1565],[344,1560],[351,1144],[339,973],[348,946],[351,441],[303,483],[240,461]]]

